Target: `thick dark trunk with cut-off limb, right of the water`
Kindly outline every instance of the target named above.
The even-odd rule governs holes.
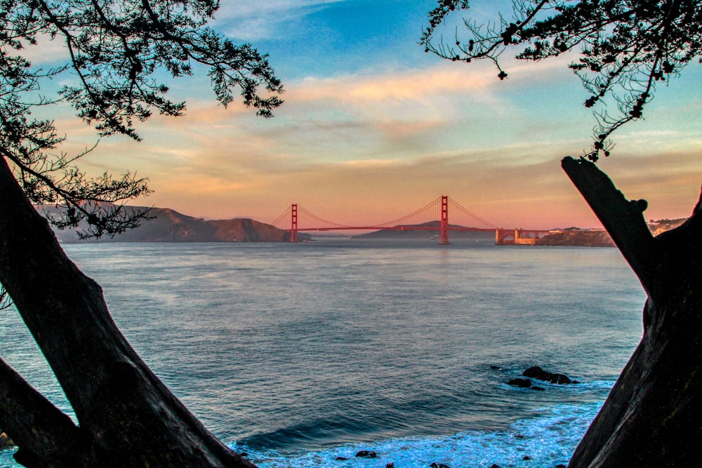
[[[642,211],[594,164],[564,171],[648,294],[644,335],[569,467],[696,467],[702,460],[702,198],[655,238]]]

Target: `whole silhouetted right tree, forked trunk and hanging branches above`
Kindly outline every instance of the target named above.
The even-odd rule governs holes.
[[[571,69],[581,77],[585,107],[600,110],[592,148],[562,161],[564,171],[611,234],[648,298],[644,335],[570,467],[691,467],[702,459],[702,198],[677,229],[651,236],[647,203],[629,201],[593,163],[609,156],[609,137],[642,117],[656,83],[702,51],[702,2],[691,0],[515,0],[513,18],[464,20],[455,40],[436,39],[446,16],[469,8],[441,0],[422,37],[427,52],[457,62],[498,62],[505,48],[541,60],[579,48]],[[591,162],[593,161],[593,162]]]

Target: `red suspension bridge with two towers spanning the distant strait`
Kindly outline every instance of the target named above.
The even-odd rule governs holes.
[[[451,213],[451,222],[449,222],[449,213]],[[463,206],[446,195],[440,196],[428,205],[409,213],[409,215],[378,225],[353,226],[325,220],[314,213],[310,213],[296,203],[289,206],[271,224],[290,232],[291,242],[297,242],[298,232],[305,231],[371,231],[380,229],[439,231],[439,243],[442,244],[449,243],[449,231],[495,232],[495,243],[498,245],[506,243],[535,243],[538,237],[548,234],[548,231],[537,229],[503,229],[497,227],[463,208]]]

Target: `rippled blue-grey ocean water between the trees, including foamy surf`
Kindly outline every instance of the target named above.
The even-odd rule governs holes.
[[[611,248],[65,249],[161,380],[260,467],[567,464],[642,333],[645,295]],[[0,314],[0,355],[70,412],[14,311]],[[533,365],[580,383],[506,384]]]

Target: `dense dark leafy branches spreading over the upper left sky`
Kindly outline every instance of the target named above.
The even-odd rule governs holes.
[[[100,135],[138,140],[135,123],[154,112],[185,111],[185,103],[168,98],[159,70],[190,75],[197,63],[209,67],[216,98],[225,106],[237,91],[260,116],[272,116],[282,103],[282,85],[267,56],[206,27],[217,8],[213,0],[0,0],[0,154],[32,203],[65,208],[52,220],[56,226],[77,227],[85,220],[82,236],[114,236],[147,213],[113,210],[107,203],[119,206],[149,189],[147,180],[131,173],[88,178],[75,164],[85,153],[56,154],[65,137],[53,121],[33,119],[33,109],[68,102]],[[65,61],[51,69],[34,67],[22,54],[47,39],[63,44]],[[40,94],[44,83],[58,78],[67,83],[58,95]]]

